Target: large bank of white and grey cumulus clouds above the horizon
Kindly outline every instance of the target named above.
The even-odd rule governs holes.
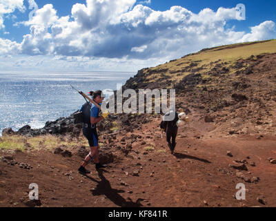
[[[35,8],[34,0],[29,3]],[[236,19],[235,8],[205,8],[196,14],[181,6],[156,11],[135,3],[86,0],[72,6],[71,15],[66,17],[59,17],[52,4],[47,4],[23,22],[30,27],[23,41],[2,39],[0,53],[10,50],[24,55],[164,60],[210,46],[276,37],[273,21],[251,28],[248,34],[226,28],[229,20]]]

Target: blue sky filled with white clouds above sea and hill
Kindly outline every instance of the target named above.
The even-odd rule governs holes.
[[[275,0],[0,0],[0,73],[136,72],[202,48],[276,39],[275,8]]]

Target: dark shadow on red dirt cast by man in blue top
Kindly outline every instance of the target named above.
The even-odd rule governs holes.
[[[103,175],[104,170],[97,170],[99,174],[99,178],[101,181],[95,180],[92,177],[88,177],[93,182],[97,182],[97,187],[95,189],[92,189],[92,195],[106,195],[106,197],[114,202],[117,206],[121,207],[141,207],[143,206],[140,202],[144,201],[144,199],[139,198],[136,200],[136,202],[132,202],[130,198],[128,198],[126,201],[124,198],[119,195],[119,193],[124,193],[123,190],[118,189],[112,189],[110,182],[106,180],[106,177]],[[107,171],[106,171],[107,172]]]

